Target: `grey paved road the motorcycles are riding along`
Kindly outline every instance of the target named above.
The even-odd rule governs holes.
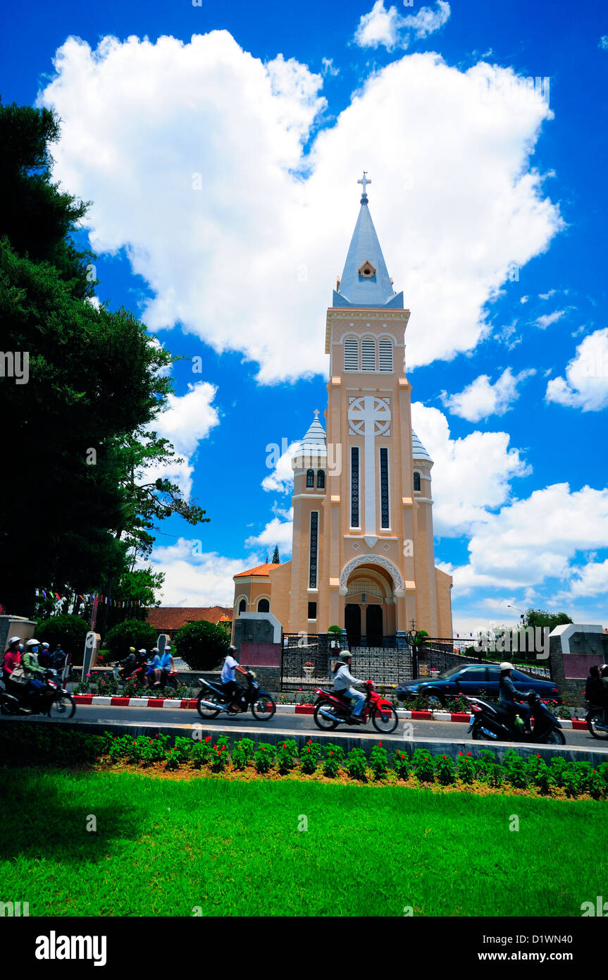
[[[23,720],[29,720],[23,718]],[[277,713],[270,721],[257,721],[251,714],[241,714],[235,718],[227,718],[225,715],[218,715],[209,720],[199,716],[197,711],[187,709],[170,708],[115,708],[113,706],[99,705],[78,705],[72,721],[89,721],[100,723],[113,723],[123,725],[179,725],[185,729],[190,729],[193,724],[204,724],[206,728],[217,728],[226,731],[234,729],[239,734],[248,731],[263,731],[264,728],[272,729],[277,733],[288,735],[290,732],[309,731],[317,732],[318,728],[312,720],[310,714],[287,714]],[[411,725],[411,728],[404,728]],[[360,738],[377,740],[382,738],[399,740],[404,736],[413,739],[438,738],[446,741],[460,742],[466,738],[468,725],[466,722],[458,721],[409,721],[399,718],[397,731],[393,735],[379,735],[371,723],[365,726],[355,725],[348,728],[341,725],[337,731],[345,734],[356,735]],[[608,741],[601,742],[592,738],[587,731],[573,731],[564,729],[566,745],[577,745],[593,752],[608,753]]]

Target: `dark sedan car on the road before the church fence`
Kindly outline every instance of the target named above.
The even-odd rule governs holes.
[[[451,667],[444,673],[428,679],[419,678],[407,684],[401,684],[397,690],[399,701],[422,695],[433,704],[445,704],[446,698],[455,698],[459,694],[470,694],[474,697],[487,694],[489,698],[498,697],[498,681],[500,667],[497,663],[467,663],[464,666]],[[556,701],[561,705],[559,690],[550,680],[539,680],[531,677],[523,670],[513,670],[511,680],[517,691],[522,695],[528,691],[536,691],[540,698]]]

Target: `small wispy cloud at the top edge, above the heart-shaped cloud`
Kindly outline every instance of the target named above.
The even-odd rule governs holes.
[[[421,7],[416,14],[401,17],[397,7],[387,10],[384,0],[376,0],[369,14],[364,14],[356,28],[354,43],[361,48],[377,48],[381,44],[389,51],[407,48],[411,34],[427,37],[443,27],[449,18],[449,4],[438,0],[437,10]]]

